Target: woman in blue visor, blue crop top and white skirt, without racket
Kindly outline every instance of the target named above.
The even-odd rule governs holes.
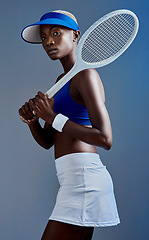
[[[42,43],[50,59],[60,60],[64,73],[57,81],[75,63],[79,35],[76,18],[61,10],[43,15],[40,22],[22,31],[25,41]],[[60,189],[42,240],[90,240],[94,227],[117,225],[113,183],[95,148],[109,150],[112,146],[97,71],[78,73],[52,99],[38,92],[19,114],[38,144],[55,149]],[[43,128],[39,118],[45,121]]]

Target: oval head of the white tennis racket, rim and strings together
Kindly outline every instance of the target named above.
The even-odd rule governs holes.
[[[133,42],[139,28],[137,16],[130,10],[113,11],[91,25],[77,48],[82,68],[98,68],[117,59]]]

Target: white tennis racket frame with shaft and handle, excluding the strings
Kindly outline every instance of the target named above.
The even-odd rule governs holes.
[[[134,31],[132,34],[132,37],[128,40],[127,44],[124,45],[121,50],[118,51],[118,53],[116,53],[114,56],[107,58],[106,60],[102,60],[101,62],[97,62],[97,63],[90,63],[88,64],[87,62],[85,62],[82,57],[81,57],[81,49],[83,47],[84,42],[86,41],[87,37],[89,36],[89,34],[97,27],[99,26],[102,22],[106,21],[107,19],[114,17],[115,15],[120,15],[120,14],[129,14],[133,17],[134,21],[135,21],[135,27],[134,27]],[[130,10],[126,10],[126,9],[121,9],[121,10],[116,10],[113,11],[111,13],[106,14],[105,16],[103,16],[102,18],[98,19],[94,24],[92,24],[87,30],[86,32],[82,35],[82,37],[79,40],[78,46],[77,46],[77,52],[76,52],[76,62],[74,64],[74,66],[72,67],[72,69],[65,75],[63,76],[57,83],[55,83],[53,85],[53,87],[51,87],[47,92],[46,95],[49,98],[52,98],[72,77],[74,77],[78,72],[83,71],[85,69],[89,69],[89,68],[99,68],[99,67],[103,67],[111,62],[113,62],[114,60],[116,60],[124,51],[126,51],[126,49],[130,46],[130,44],[133,42],[134,38],[137,35],[138,32],[138,28],[139,28],[139,21],[137,16]]]

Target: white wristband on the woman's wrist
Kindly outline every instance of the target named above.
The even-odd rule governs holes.
[[[63,127],[65,125],[65,123],[69,120],[68,117],[62,115],[61,113],[59,113],[58,115],[56,115],[56,117],[54,118],[54,121],[52,123],[52,127],[55,128],[56,130],[58,130],[59,132],[62,132]]]

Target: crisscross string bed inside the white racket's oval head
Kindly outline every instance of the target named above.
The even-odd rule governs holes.
[[[113,56],[131,38],[134,27],[135,22],[130,15],[111,17],[89,34],[82,48],[82,59],[95,63]]]

